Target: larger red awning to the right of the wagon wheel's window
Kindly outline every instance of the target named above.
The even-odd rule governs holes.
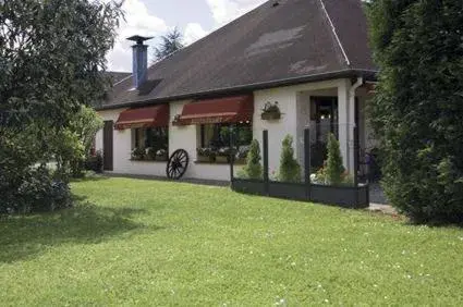
[[[174,122],[178,125],[239,123],[253,121],[254,97],[235,96],[199,100],[183,107],[182,114]]]

